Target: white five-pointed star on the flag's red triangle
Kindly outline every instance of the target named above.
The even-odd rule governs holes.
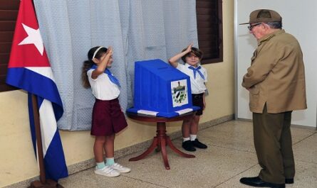
[[[43,45],[43,40],[40,33],[40,28],[33,29],[24,25],[24,23],[22,23],[22,26],[24,30],[26,31],[26,33],[28,33],[28,36],[24,38],[24,40],[22,40],[22,42],[19,43],[19,45],[33,44],[38,49],[38,52],[40,52],[41,55],[43,55],[44,45]]]

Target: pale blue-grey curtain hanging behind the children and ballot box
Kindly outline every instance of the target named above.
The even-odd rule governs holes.
[[[34,0],[43,42],[63,101],[58,128],[90,130],[94,97],[80,73],[88,50],[113,46],[120,105],[133,106],[134,62],[168,58],[198,45],[195,0]]]

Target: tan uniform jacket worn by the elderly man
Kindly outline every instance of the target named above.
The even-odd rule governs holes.
[[[303,54],[296,38],[284,30],[260,38],[244,74],[242,86],[249,89],[249,108],[262,113],[306,109]]]

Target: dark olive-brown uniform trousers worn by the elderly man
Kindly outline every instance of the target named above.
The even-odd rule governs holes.
[[[269,114],[265,105],[262,114],[253,113],[254,147],[264,182],[284,184],[295,175],[291,112]]]

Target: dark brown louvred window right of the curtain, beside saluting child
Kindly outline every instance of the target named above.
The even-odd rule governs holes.
[[[202,64],[222,62],[222,0],[196,0],[196,12]]]

